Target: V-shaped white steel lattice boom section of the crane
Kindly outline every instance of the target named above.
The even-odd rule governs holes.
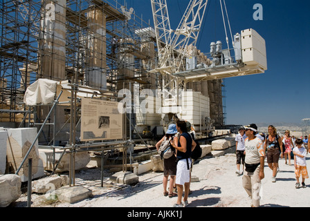
[[[208,0],[190,0],[178,28],[170,28],[165,0],[151,0],[158,45],[158,70],[172,74],[185,67],[188,45],[196,45]],[[163,45],[162,45],[163,43]]]

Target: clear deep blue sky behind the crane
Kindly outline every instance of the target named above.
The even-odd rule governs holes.
[[[167,0],[172,28],[188,2]],[[153,23],[149,0],[126,3]],[[253,19],[255,3],[262,5],[262,21]],[[253,28],[265,39],[268,64],[264,74],[224,79],[226,124],[301,123],[310,117],[310,1],[226,0],[226,6],[233,35]],[[205,19],[197,47],[207,53],[210,42],[226,42],[219,0],[208,1]]]

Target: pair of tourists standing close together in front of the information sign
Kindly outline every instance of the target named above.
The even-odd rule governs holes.
[[[173,197],[177,193],[177,200],[174,207],[188,206],[188,194],[190,193],[190,172],[192,168],[191,153],[196,147],[193,136],[190,135],[191,125],[185,120],[179,120],[176,124],[170,124],[165,136],[157,142],[156,148],[159,150],[165,140],[170,139],[170,148],[174,154],[163,159],[163,195]],[[167,192],[167,180],[170,176],[169,192]],[[174,187],[174,184],[176,187]],[[184,188],[183,188],[184,187]],[[184,197],[182,202],[184,189]],[[176,191],[176,193],[175,193]]]

